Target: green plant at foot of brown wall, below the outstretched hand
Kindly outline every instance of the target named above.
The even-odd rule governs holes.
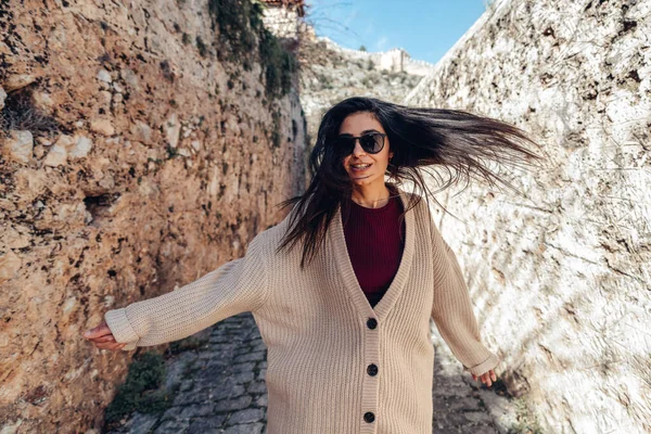
[[[136,356],[129,366],[127,379],[106,408],[105,423],[115,424],[133,411],[152,413],[167,409],[171,398],[166,391],[159,390],[165,375],[163,356],[152,352]]]

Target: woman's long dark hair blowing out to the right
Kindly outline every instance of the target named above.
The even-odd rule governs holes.
[[[518,191],[498,173],[488,168],[485,161],[518,166],[531,165],[541,158],[522,145],[538,146],[523,130],[494,118],[460,110],[410,107],[376,98],[347,98],[331,106],[321,118],[317,141],[309,156],[311,180],[307,191],[278,205],[284,208],[297,203],[289,216],[291,230],[284,234],[277,252],[289,244],[293,248],[305,238],[302,269],[306,259],[311,260],[323,242],[337,206],[342,206],[342,213],[347,213],[354,187],[341,157],[333,152],[332,143],[339,136],[343,120],[357,112],[372,114],[387,135],[394,156],[386,175],[395,179],[397,184],[411,181],[429,193],[425,197],[432,196],[442,207],[429,190],[421,171],[430,173],[437,179],[439,188],[435,193],[460,180],[465,180],[464,190],[474,177],[487,181],[489,186],[499,182]],[[447,173],[447,179],[442,176],[441,169]],[[396,194],[391,183],[386,186]],[[412,194],[400,218],[421,199],[421,195]]]

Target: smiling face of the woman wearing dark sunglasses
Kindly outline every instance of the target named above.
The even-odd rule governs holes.
[[[347,116],[340,127],[340,136],[359,137],[372,131],[383,132],[382,125],[373,117],[371,113],[359,112]],[[344,168],[355,184],[371,184],[378,182],[384,184],[384,173],[388,166],[388,158],[393,156],[390,152],[388,137],[384,138],[384,148],[376,154],[367,153],[359,144],[359,140],[355,141],[355,150],[352,154],[344,157]],[[359,164],[370,164],[366,169],[353,167]]]

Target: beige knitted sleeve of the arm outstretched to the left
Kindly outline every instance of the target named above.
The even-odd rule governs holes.
[[[239,259],[157,297],[104,314],[124,350],[178,341],[225,318],[260,308],[267,296],[266,264],[258,233]]]

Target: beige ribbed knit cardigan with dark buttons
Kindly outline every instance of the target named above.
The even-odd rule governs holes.
[[[398,191],[407,206],[411,193]],[[499,360],[481,341],[463,275],[426,202],[405,217],[403,257],[374,308],[355,277],[339,208],[304,270],[299,245],[275,253],[288,215],[254,237],[244,257],[104,318],[132,349],[251,311],[267,346],[268,434],[431,434],[430,318],[465,370],[478,375]]]

